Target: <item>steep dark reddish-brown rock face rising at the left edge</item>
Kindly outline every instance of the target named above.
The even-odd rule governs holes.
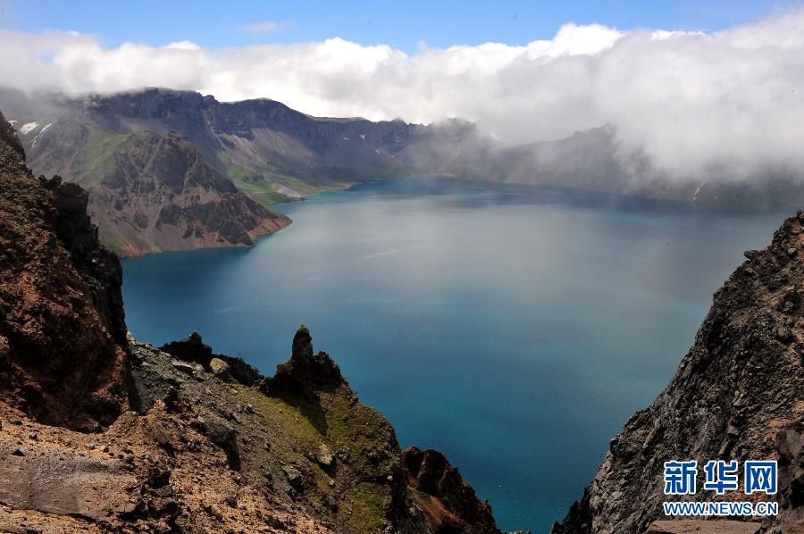
[[[87,196],[40,181],[0,115],[0,395],[39,421],[83,430],[126,405],[121,268]]]

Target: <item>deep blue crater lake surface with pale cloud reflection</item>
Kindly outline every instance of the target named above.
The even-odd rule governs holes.
[[[782,215],[549,189],[365,185],[285,204],[251,250],[123,262],[127,321],[264,373],[300,323],[402,446],[443,451],[503,529],[546,532],[672,377]]]

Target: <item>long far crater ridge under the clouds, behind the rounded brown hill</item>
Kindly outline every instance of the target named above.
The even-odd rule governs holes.
[[[312,117],[265,98],[222,103],[160,88],[76,98],[0,88],[0,105],[16,121],[38,173],[72,180],[72,161],[106,135],[175,131],[264,205],[399,176],[508,181],[753,209],[804,200],[804,179],[791,169],[766,169],[745,179],[722,168],[709,169],[703,178],[667,176],[644,154],[624,150],[609,127],[506,146],[468,121],[422,125]]]

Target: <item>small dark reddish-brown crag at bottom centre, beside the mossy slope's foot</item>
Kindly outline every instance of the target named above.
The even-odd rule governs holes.
[[[437,534],[499,532],[491,507],[482,503],[457,469],[438,451],[415,446],[402,451],[407,484]]]

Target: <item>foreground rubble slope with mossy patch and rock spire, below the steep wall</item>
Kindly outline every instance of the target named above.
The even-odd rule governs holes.
[[[203,350],[200,339],[194,345]],[[297,332],[293,364],[280,366],[286,371],[278,371],[277,384],[295,388],[302,376],[313,381],[267,394],[133,338],[129,346],[137,411],[122,413],[102,434],[42,425],[0,403],[0,528],[498,532],[488,507],[446,460],[424,462],[420,481],[412,481],[422,489],[408,488],[389,422],[360,404],[342,378],[328,373],[335,378],[319,380],[322,369],[287,371],[312,355],[306,329]],[[294,380],[286,381],[286,372]],[[427,477],[441,481],[432,489],[440,496],[426,505],[448,503],[451,522],[441,516],[433,523],[421,505]],[[482,523],[473,515],[478,510]],[[445,530],[447,524],[477,527]]]

